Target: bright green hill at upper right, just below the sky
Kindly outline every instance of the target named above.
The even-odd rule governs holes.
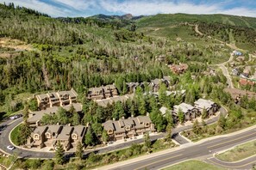
[[[200,32],[205,36],[212,36],[227,43],[253,51],[256,48],[256,18],[235,15],[153,15],[137,21],[141,32],[147,35],[168,38],[184,38],[188,41],[190,34],[184,31],[185,26],[198,25]],[[187,29],[187,28],[185,28]],[[184,34],[181,32],[187,32]]]

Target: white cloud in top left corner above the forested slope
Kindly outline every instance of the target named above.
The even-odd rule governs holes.
[[[40,0],[0,0],[0,3],[14,3],[15,5],[27,7],[29,9],[35,9],[42,13],[52,16],[67,16],[72,14],[69,9],[60,9],[51,4],[43,3]]]

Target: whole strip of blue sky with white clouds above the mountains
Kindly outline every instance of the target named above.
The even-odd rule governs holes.
[[[256,17],[256,0],[0,0],[53,17],[91,15],[227,14]]]

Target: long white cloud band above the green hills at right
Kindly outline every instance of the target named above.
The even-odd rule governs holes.
[[[229,15],[247,15],[256,16],[256,9],[236,8],[223,9],[222,3],[215,4],[193,4],[193,3],[173,3],[167,1],[124,1],[114,0],[109,3],[108,0],[100,0],[101,7],[111,13],[123,13],[132,15],[155,15],[159,13],[174,14],[229,14]],[[254,12],[253,12],[254,11]]]

